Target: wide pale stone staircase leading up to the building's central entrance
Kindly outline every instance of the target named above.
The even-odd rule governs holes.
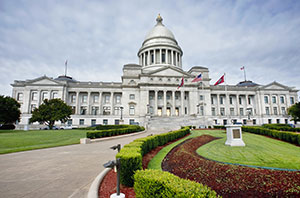
[[[177,130],[181,126],[207,126],[208,123],[201,117],[197,116],[152,116],[148,119],[149,130]]]

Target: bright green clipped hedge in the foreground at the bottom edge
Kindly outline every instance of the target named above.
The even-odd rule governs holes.
[[[219,197],[203,184],[181,179],[160,170],[140,170],[134,175],[136,198],[144,197]]]

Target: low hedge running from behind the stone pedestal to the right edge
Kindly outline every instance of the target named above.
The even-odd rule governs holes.
[[[250,133],[259,134],[259,135],[266,135],[292,144],[300,145],[300,134],[298,133],[277,131],[277,130],[267,129],[263,127],[250,127],[250,126],[243,126],[242,130]]]

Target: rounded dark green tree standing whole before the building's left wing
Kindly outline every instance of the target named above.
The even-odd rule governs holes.
[[[66,122],[72,114],[72,108],[61,99],[44,100],[44,103],[32,112],[30,123],[45,123],[50,129],[55,121]]]

